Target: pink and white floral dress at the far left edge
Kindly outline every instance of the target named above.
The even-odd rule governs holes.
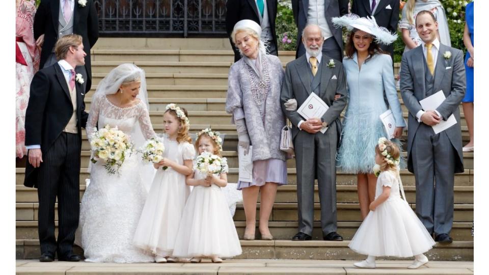
[[[34,14],[36,7],[30,1],[22,0],[17,8],[15,19],[16,47],[20,49],[23,60],[27,65],[15,63],[15,154],[21,158],[26,155],[25,140],[25,110],[29,103],[31,80],[39,69],[40,52],[34,40]],[[21,38],[21,39],[20,39]],[[23,42],[19,42],[19,40]]]

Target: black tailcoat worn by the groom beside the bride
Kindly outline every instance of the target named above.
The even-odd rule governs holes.
[[[85,92],[75,81],[76,126],[80,140],[82,127],[87,124]],[[39,70],[32,79],[29,104],[25,112],[25,145],[41,145],[45,155],[58,138],[73,114],[73,104],[63,71],[58,63]],[[82,144],[80,143],[80,150]],[[42,163],[41,165],[45,165]],[[39,168],[26,163],[24,185],[37,187]]]

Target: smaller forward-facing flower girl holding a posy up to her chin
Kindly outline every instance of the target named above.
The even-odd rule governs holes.
[[[204,129],[197,134],[195,144],[199,154],[205,151],[221,156],[221,143],[219,133]],[[221,189],[228,183],[227,174],[206,176],[194,170],[187,176],[186,183],[194,189],[183,210],[173,256],[193,257],[193,263],[200,262],[202,258],[220,263],[223,261],[221,258],[241,254],[233,217]]]

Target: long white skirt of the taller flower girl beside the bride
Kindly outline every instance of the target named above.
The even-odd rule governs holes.
[[[171,256],[190,187],[185,176],[158,170],[144,204],[133,244],[159,256]],[[227,208],[226,208],[227,210]]]

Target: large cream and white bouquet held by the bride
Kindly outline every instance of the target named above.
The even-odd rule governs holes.
[[[104,128],[95,131],[92,134],[90,142],[93,157],[92,163],[99,160],[105,162],[103,167],[108,174],[115,174],[119,171],[124,163],[124,159],[132,154],[133,145],[129,142],[127,135],[115,128],[106,125]]]

